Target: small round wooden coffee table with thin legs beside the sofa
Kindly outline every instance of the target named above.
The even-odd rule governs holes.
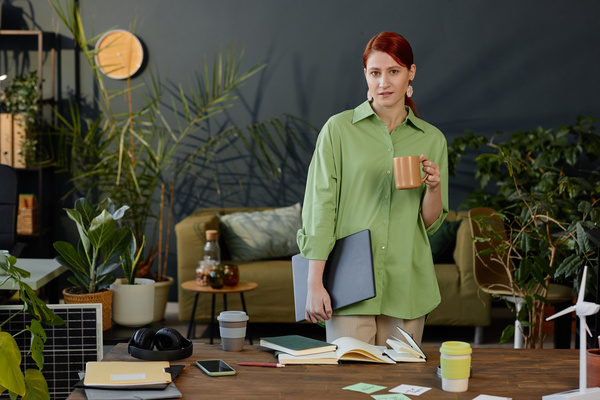
[[[212,304],[210,311],[210,324],[208,329],[210,331],[210,344],[213,343],[213,327],[215,322],[215,297],[217,294],[223,295],[223,310],[227,311],[227,295],[232,293],[239,293],[240,299],[242,300],[242,308],[244,312],[248,314],[246,310],[246,301],[244,300],[244,292],[249,292],[250,290],[254,290],[258,287],[256,282],[251,281],[242,281],[240,280],[235,286],[223,286],[221,289],[213,289],[211,286],[200,286],[196,283],[196,280],[186,281],[181,284],[181,288],[185,290],[189,290],[191,292],[196,292],[196,296],[194,297],[194,306],[192,307],[192,315],[190,316],[190,322],[188,324],[188,334],[187,338],[192,340],[196,330],[196,324],[194,323],[194,316],[196,315],[196,306],[198,305],[198,297],[200,293],[210,293],[212,294]],[[248,339],[250,340],[250,344],[252,344],[252,336],[248,334],[248,328],[246,328],[246,334],[248,335]]]

